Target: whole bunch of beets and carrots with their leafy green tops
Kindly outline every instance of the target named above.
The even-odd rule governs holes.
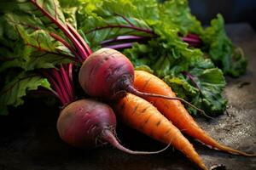
[[[186,1],[62,0],[61,5],[63,10],[56,0],[0,5],[2,114],[22,105],[27,91],[48,90],[63,105],[57,122],[61,139],[76,147],[108,142],[131,154],[162,151],[120,145],[115,113],[128,126],[172,144],[201,169],[207,167],[182,130],[218,150],[255,156],[218,144],[188,112],[222,113],[222,71],[234,77],[245,71],[246,60],[224,34],[220,15],[203,29]],[[91,99],[75,95],[75,73]]]

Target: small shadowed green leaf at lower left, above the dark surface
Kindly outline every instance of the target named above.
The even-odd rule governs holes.
[[[8,114],[9,105],[22,105],[22,97],[26,96],[27,91],[37,90],[38,87],[50,89],[47,79],[34,73],[21,72],[17,77],[13,77],[0,91],[0,115]]]

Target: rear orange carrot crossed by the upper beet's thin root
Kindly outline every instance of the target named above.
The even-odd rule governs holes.
[[[135,71],[134,87],[143,93],[161,94],[168,97],[176,97],[166,82],[160,78],[146,71]],[[241,156],[256,156],[255,154],[248,154],[240,150],[234,150],[223,144],[219,144],[215,139],[212,139],[199,125],[195,122],[189,112],[186,111],[183,104],[176,99],[160,99],[145,97],[150,103],[153,103],[155,107],[166,118],[179,129],[182,129],[184,133],[189,136],[198,139],[203,144],[212,146],[215,149],[227,151],[231,154]]]

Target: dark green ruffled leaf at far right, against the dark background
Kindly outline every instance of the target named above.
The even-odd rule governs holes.
[[[246,72],[247,59],[241,48],[236,48],[224,31],[224,18],[221,14],[212,20],[210,27],[201,35],[207,53],[215,65],[224,71],[224,74],[239,77]]]

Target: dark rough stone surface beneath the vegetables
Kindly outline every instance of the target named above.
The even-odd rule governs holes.
[[[231,39],[249,56],[247,74],[227,78],[224,95],[229,99],[226,114],[214,121],[197,119],[219,142],[256,153],[256,36],[247,24],[229,25]],[[112,147],[78,150],[59,138],[55,122],[59,109],[30,100],[0,117],[0,170],[189,170],[194,163],[172,148],[151,156],[131,156]],[[123,134],[123,135],[120,135]],[[165,147],[129,128],[118,128],[122,144],[132,150],[160,150]],[[208,167],[223,164],[226,169],[256,169],[256,158],[231,156],[190,139]],[[221,169],[221,168],[218,168]]]

